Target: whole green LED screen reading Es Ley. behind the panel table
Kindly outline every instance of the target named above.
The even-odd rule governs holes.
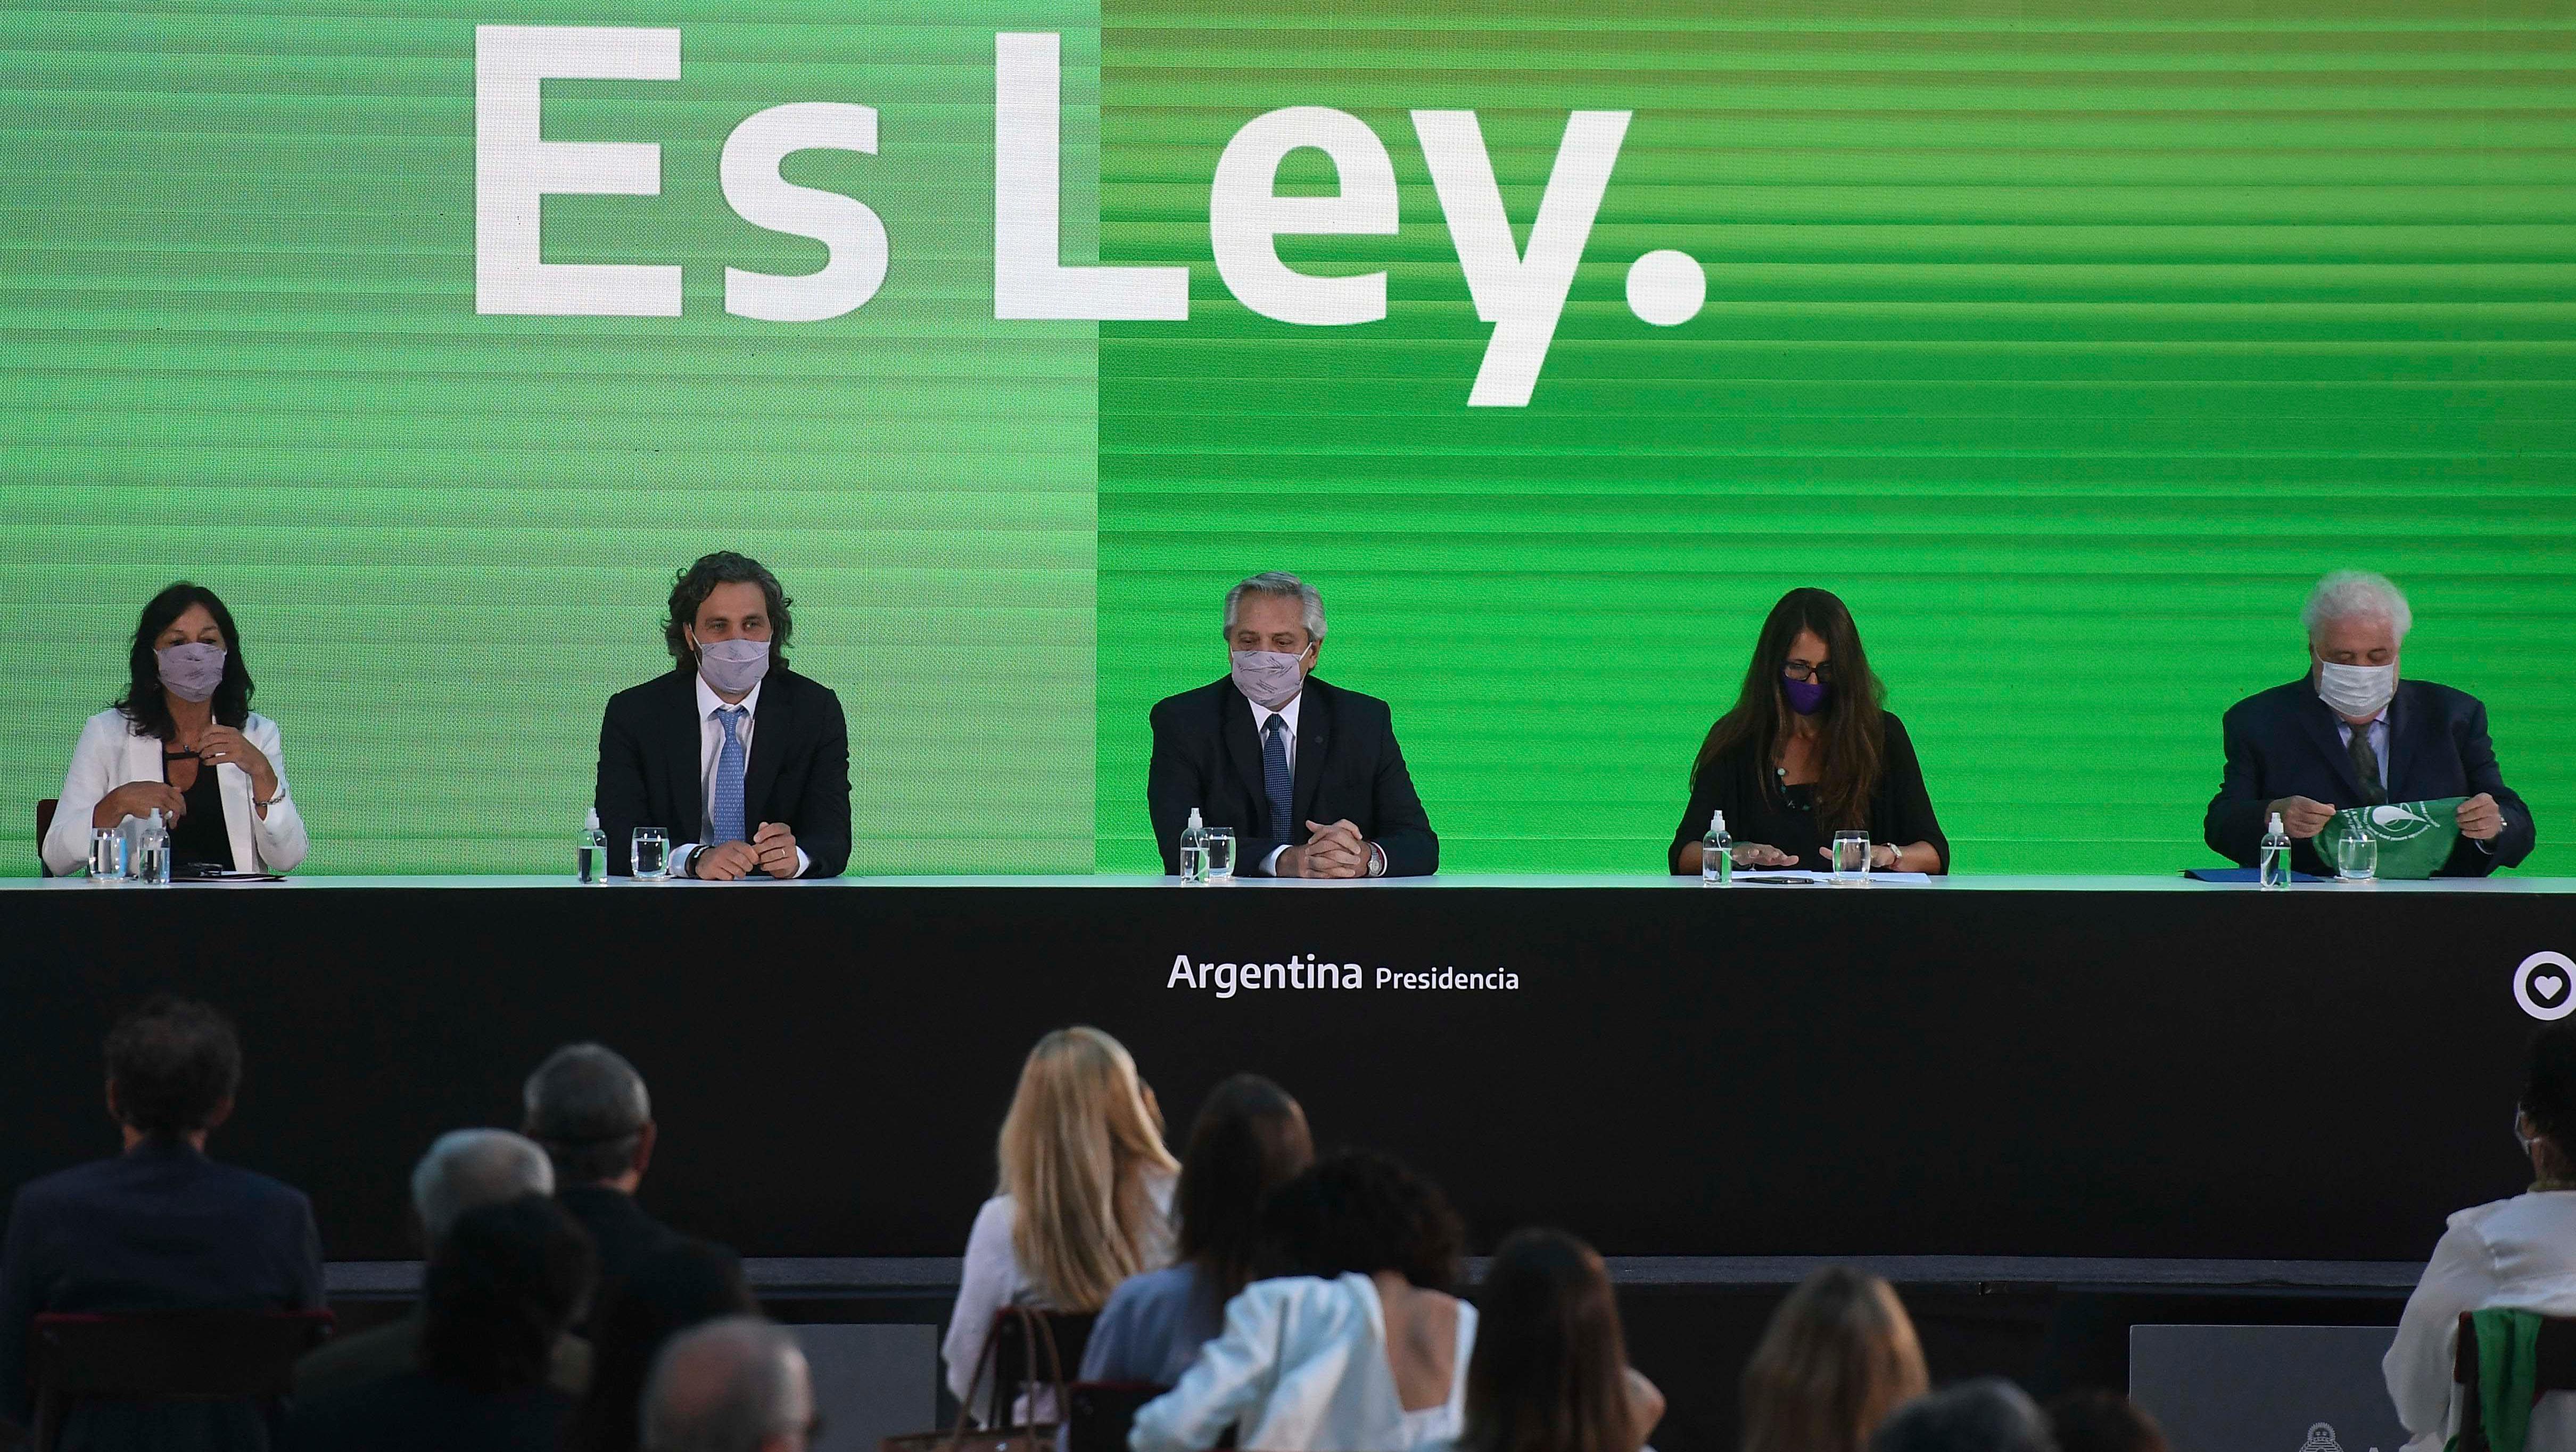
[[[675,265],[675,314],[482,306],[477,28],[523,26],[677,31],[672,80],[541,85],[546,142],[659,147],[541,260]],[[1059,36],[1054,147],[997,139],[1002,33]],[[1255,569],[1324,590],[1448,870],[1656,870],[1824,584],[1958,870],[2169,873],[2218,713],[2367,566],[2576,870],[2563,5],[242,0],[0,54],[18,821],[185,574],[307,870],[559,870],[600,700],[734,546],[850,708],[855,873],[1149,870],[1146,705]],[[1115,273],[1028,283],[994,178],[1041,152],[1046,265]],[[793,229],[850,237],[824,193],[873,291]]]

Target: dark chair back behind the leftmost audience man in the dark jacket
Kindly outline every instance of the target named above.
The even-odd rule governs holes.
[[[278,1401],[330,1310],[118,1310],[39,1316],[28,1346],[33,1452],[54,1452],[82,1401]]]

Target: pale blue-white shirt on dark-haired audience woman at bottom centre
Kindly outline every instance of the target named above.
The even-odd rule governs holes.
[[[1200,1452],[1234,1426],[1262,1452],[1427,1452],[1458,1442],[1476,1308],[1458,1303],[1445,1403],[1404,1411],[1386,1359],[1386,1308],[1365,1274],[1257,1280],[1226,1303],[1226,1334],[1180,1385],[1136,1411],[1131,1452]]]

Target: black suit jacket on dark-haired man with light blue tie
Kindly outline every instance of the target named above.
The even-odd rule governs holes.
[[[696,672],[672,669],[608,698],[595,803],[611,873],[634,873],[636,826],[662,826],[672,847],[698,839],[698,741]],[[752,759],[742,767],[742,824],[786,821],[806,850],[806,875],[837,878],[850,865],[850,726],[832,687],[773,669],[760,682]]]

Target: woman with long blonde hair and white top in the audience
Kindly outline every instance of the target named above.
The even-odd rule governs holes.
[[[1172,1264],[1180,1161],[1162,1146],[1154,1092],[1115,1038],[1069,1027],[1028,1050],[999,1161],[1002,1192],[966,1236],[943,1346],[948,1390],[969,1406],[997,1310],[1100,1310],[1126,1277]]]

